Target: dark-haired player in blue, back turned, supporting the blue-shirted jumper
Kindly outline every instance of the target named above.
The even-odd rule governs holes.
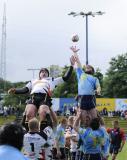
[[[100,131],[98,118],[92,119],[90,127],[81,135],[83,141],[83,160],[102,160],[101,151],[104,144],[104,136]]]

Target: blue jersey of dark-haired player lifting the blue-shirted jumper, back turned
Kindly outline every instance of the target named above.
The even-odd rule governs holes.
[[[83,135],[81,135],[83,141],[83,152],[85,154],[101,153],[101,146],[103,143],[103,136],[100,130],[92,130],[87,128]]]

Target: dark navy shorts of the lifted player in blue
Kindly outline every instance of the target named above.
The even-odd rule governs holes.
[[[95,95],[81,95],[78,97],[78,104],[82,110],[90,110],[96,107]]]

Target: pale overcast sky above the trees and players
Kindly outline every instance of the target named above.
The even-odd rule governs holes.
[[[0,0],[0,35],[4,1]],[[88,58],[106,73],[111,58],[127,52],[126,6],[126,0],[6,0],[6,79],[28,81],[33,78],[30,68],[70,65],[73,34],[79,35],[76,46],[85,64],[85,18],[68,16],[71,11],[105,12],[88,17]]]

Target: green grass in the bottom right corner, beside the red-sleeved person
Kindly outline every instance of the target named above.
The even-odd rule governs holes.
[[[127,159],[127,142],[125,143],[123,150],[119,152],[116,160],[126,160]],[[108,160],[111,160],[111,156],[109,157]]]

